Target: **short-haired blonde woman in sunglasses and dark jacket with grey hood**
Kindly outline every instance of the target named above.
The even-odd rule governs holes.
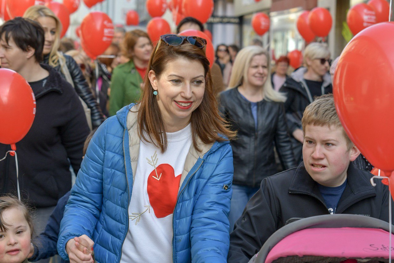
[[[302,161],[304,135],[301,119],[305,108],[315,97],[333,93],[329,74],[330,51],[325,43],[310,43],[304,50],[304,64],[286,79],[282,88],[287,100],[284,103],[287,125],[297,164]]]

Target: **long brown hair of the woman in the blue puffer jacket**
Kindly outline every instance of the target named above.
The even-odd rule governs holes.
[[[198,61],[204,67],[204,97],[199,107],[191,113],[190,118],[193,146],[201,151],[197,146],[197,137],[205,144],[234,139],[236,132],[231,131],[227,122],[219,115],[217,101],[213,91],[209,61],[206,58],[205,51],[189,43],[178,46],[160,45],[161,43],[162,41],[159,41],[156,51],[152,53],[148,64],[148,70],[153,70],[157,79],[160,78],[168,62],[178,58]],[[167,148],[164,122],[156,96],[153,94],[153,87],[147,75],[143,82],[144,92],[138,112],[138,134],[142,139],[152,142],[164,152]]]

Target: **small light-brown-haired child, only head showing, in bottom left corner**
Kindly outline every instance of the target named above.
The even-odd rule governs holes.
[[[27,263],[33,230],[26,205],[15,197],[0,197],[0,263]]]

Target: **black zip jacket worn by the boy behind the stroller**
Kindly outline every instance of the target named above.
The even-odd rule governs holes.
[[[359,214],[388,222],[388,200],[392,202],[388,186],[380,180],[375,180],[376,186],[372,186],[372,174],[357,169],[353,163],[347,175],[336,214]],[[230,234],[228,262],[248,262],[290,218],[329,214],[323,200],[303,163],[265,178]]]

